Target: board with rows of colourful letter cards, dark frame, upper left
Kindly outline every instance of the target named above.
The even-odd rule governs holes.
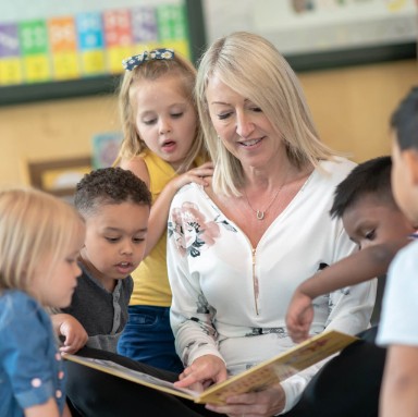
[[[199,16],[196,0],[3,2],[0,105],[113,91],[122,60],[158,47],[194,60]]]

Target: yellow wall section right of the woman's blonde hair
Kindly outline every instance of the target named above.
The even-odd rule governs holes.
[[[418,85],[417,61],[398,61],[300,75],[322,139],[361,162],[390,152],[389,120]]]

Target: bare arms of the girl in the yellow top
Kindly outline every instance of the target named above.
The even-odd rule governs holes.
[[[147,170],[147,165],[145,164],[142,158],[136,157],[128,161],[122,160],[120,167],[124,170],[132,171],[149,187],[149,173]],[[167,221],[169,218],[170,205],[175,193],[183,185],[186,185],[192,182],[200,184],[202,186],[208,185],[208,179],[206,177],[212,176],[212,173],[213,164],[211,162],[206,162],[200,167],[193,168],[192,170],[179,176],[175,176],[165,185],[165,187],[162,189],[161,194],[158,196],[157,200],[152,204],[151,207],[151,212],[149,214],[148,221],[147,246],[145,248],[144,257],[147,257],[149,255],[152,248],[157,245],[162,234],[167,232]]]

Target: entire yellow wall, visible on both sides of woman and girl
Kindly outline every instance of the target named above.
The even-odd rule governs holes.
[[[299,74],[322,139],[357,162],[388,154],[389,118],[418,85],[415,60]],[[27,181],[25,162],[89,155],[119,127],[113,96],[0,108],[0,186]]]

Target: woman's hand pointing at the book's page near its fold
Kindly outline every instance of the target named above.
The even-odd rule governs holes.
[[[179,376],[179,381],[174,385],[202,391],[213,383],[224,381],[226,377],[226,367],[221,358],[214,355],[204,355]]]

